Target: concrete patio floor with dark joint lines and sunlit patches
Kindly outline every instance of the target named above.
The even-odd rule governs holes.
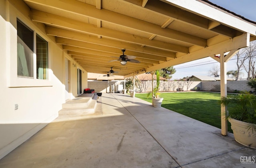
[[[255,168],[232,134],[125,94],[96,113],[58,117],[0,160],[0,168]]]

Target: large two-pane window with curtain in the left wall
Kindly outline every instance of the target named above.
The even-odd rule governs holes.
[[[18,77],[48,79],[48,42],[18,19],[17,35]],[[34,50],[35,36],[36,50]]]

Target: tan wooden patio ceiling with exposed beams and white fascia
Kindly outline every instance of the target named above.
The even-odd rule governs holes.
[[[87,72],[128,77],[248,46],[256,25],[204,0],[24,0]],[[134,55],[141,63],[115,60]]]

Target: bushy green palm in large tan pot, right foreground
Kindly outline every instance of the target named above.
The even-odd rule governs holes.
[[[256,95],[249,92],[222,97],[222,106],[230,105],[226,119],[231,123],[235,140],[256,148]]]

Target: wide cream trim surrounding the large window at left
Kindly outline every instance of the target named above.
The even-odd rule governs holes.
[[[25,25],[27,25],[30,29],[34,31],[34,50],[36,49],[36,33],[44,38],[48,42],[48,79],[36,79],[36,53],[34,53],[34,78],[26,78],[26,77],[19,77],[17,75],[17,18],[22,21]],[[14,22],[14,17],[13,17]],[[44,35],[42,32],[37,31],[36,26],[34,26],[30,21],[26,21],[22,16],[15,16],[15,22],[10,24],[6,23],[6,39],[8,41],[8,51],[10,55],[7,55],[7,70],[6,70],[6,77],[7,77],[7,87],[44,87],[44,86],[52,86],[52,70],[51,70],[51,54],[50,50],[50,39]],[[15,27],[13,26],[15,25]]]

